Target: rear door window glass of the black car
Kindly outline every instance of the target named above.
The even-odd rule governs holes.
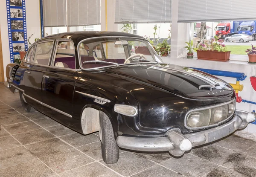
[[[33,63],[48,65],[52,53],[53,41],[42,42],[36,45]]]

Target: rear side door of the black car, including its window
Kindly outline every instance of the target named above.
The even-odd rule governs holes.
[[[52,56],[53,43],[53,40],[37,43],[33,61],[25,65],[24,97],[37,110],[41,110],[41,84]]]

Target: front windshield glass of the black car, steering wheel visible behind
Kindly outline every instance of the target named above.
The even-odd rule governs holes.
[[[78,48],[83,69],[145,62],[162,63],[151,44],[140,38],[92,38],[82,41]]]

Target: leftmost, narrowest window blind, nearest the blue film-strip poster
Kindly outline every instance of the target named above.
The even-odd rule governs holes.
[[[43,0],[44,27],[67,26],[66,0]]]

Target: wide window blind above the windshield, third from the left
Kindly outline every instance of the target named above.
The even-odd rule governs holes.
[[[172,0],[116,0],[115,23],[170,23]]]

